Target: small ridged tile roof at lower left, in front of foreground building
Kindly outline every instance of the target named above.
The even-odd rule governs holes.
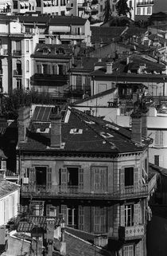
[[[48,220],[47,220],[48,219]],[[60,226],[64,223],[63,218],[47,217],[47,216],[29,216],[26,222],[20,222],[17,226],[17,232],[28,232],[30,233],[34,227],[42,228],[46,230],[46,223],[51,221],[54,226]]]

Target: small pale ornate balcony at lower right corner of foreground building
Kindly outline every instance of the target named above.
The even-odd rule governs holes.
[[[118,228],[118,237],[119,239],[134,240],[141,239],[146,233],[146,227],[144,224],[137,226],[119,226]]]

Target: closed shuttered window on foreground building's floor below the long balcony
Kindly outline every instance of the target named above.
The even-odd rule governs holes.
[[[95,233],[107,232],[107,209],[106,207],[94,207],[94,228]]]

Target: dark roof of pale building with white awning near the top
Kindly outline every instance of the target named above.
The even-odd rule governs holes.
[[[70,25],[80,25],[83,26],[87,22],[86,18],[80,18],[77,16],[55,16],[54,18],[51,18],[49,21],[50,26],[70,26]]]

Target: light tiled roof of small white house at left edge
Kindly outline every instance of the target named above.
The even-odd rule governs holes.
[[[4,179],[0,179],[0,198],[16,191],[19,186]]]

